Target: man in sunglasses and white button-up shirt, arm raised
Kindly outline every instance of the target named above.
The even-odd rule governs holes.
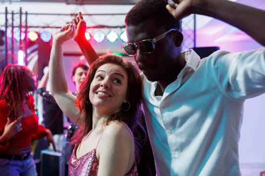
[[[193,50],[180,51],[178,20],[193,13],[214,17],[264,46],[265,11],[223,0],[175,3],[139,1],[127,13],[128,42],[122,45],[142,71],[156,174],[240,175],[243,104],[265,92],[265,49],[200,59]]]

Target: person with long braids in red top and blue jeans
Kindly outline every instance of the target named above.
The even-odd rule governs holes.
[[[56,151],[49,129],[38,124],[32,92],[36,76],[24,65],[9,64],[0,76],[0,173],[37,175],[31,141],[46,136]]]

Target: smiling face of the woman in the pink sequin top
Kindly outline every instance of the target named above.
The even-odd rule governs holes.
[[[118,112],[121,104],[127,102],[127,86],[128,75],[120,65],[101,65],[90,84],[90,102],[101,113]]]

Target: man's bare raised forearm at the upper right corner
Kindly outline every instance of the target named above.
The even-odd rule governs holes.
[[[210,0],[198,10],[198,14],[222,20],[265,46],[265,11],[230,1]]]

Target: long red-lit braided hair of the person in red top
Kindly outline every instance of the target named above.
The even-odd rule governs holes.
[[[8,117],[17,119],[17,102],[23,102],[24,98],[30,110],[34,111],[34,99],[31,95],[29,75],[31,71],[27,66],[18,64],[8,64],[0,75],[0,100],[5,100],[8,108]],[[24,111],[24,104],[21,103]]]

